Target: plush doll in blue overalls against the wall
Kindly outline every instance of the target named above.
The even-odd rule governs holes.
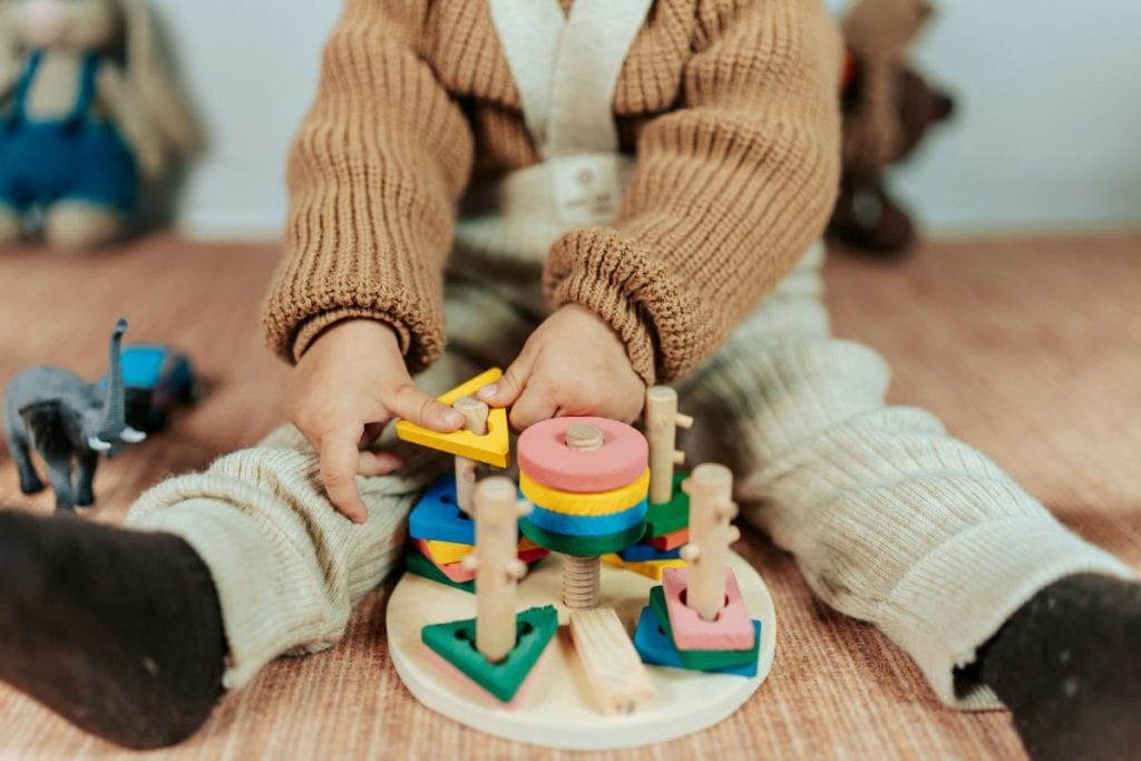
[[[90,249],[199,144],[145,0],[0,0],[0,246]]]

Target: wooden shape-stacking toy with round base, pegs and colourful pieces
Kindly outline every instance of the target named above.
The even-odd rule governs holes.
[[[397,423],[400,438],[455,458],[410,515],[412,575],[389,600],[405,685],[462,723],[552,747],[653,744],[730,715],[771,667],[775,617],[729,550],[729,471],[674,472],[678,429],[694,422],[677,394],[647,391],[645,435],[601,418],[532,426],[516,485],[480,480],[510,461],[505,411],[472,396],[499,377],[440,397],[463,430]],[[549,552],[561,566],[542,564]],[[551,647],[560,624],[568,637]]]

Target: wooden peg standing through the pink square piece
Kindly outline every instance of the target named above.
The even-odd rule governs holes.
[[[713,621],[725,606],[726,559],[733,542],[729,521],[736,516],[733,472],[725,465],[698,465],[685,489],[689,494],[690,541],[682,550],[690,564],[686,605],[705,621]]]

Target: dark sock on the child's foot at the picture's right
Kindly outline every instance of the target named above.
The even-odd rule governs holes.
[[[1141,584],[1063,578],[1019,608],[980,662],[1034,759],[1141,758]]]

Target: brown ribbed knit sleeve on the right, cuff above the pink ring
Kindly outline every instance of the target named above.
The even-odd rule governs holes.
[[[681,104],[650,122],[614,228],[553,246],[545,286],[685,375],[824,230],[840,173],[841,42],[820,0],[703,0]]]

